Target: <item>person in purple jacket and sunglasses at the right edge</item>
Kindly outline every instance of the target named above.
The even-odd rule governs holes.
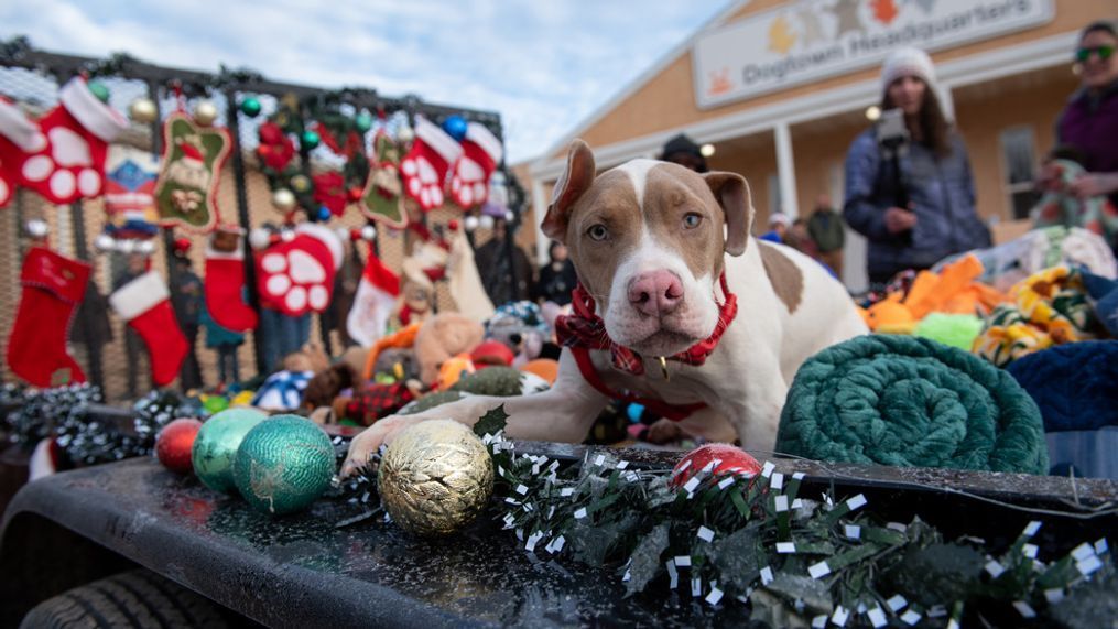
[[[1079,149],[1087,173],[1071,184],[1080,199],[1107,196],[1118,206],[1118,36],[1107,21],[1088,25],[1079,37],[1076,67],[1081,86],[1060,114],[1057,137]],[[1044,177],[1042,172],[1042,178]],[[1110,242],[1118,249],[1118,242]]]

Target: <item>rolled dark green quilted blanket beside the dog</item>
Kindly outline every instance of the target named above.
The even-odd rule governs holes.
[[[796,372],[776,449],[827,461],[1048,473],[1040,411],[1012,375],[928,339],[868,335]]]

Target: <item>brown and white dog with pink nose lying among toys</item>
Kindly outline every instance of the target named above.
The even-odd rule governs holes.
[[[614,368],[609,352],[591,351],[600,381],[670,404],[704,402],[705,409],[682,420],[688,432],[771,450],[799,365],[827,345],[866,333],[846,290],[815,260],[749,236],[754,208],[739,174],[699,174],[653,160],[595,172],[590,149],[576,140],[543,231],[567,245],[609,340],[644,360],[637,377]],[[703,364],[667,362],[665,371],[656,356],[672,356],[713,333],[726,299],[719,296],[723,269],[737,295],[737,317]],[[607,402],[565,347],[551,390],[473,397],[385,418],[353,440],[342,473],[352,473],[411,423],[451,418],[473,425],[500,404],[509,413],[509,437],[578,442]]]

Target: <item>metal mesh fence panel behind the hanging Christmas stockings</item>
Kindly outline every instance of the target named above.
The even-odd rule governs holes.
[[[158,105],[160,121],[182,105],[186,111],[192,111],[202,98],[216,105],[219,114],[215,124],[228,127],[234,136],[235,152],[239,152],[239,159],[236,155],[229,159],[220,173],[217,194],[219,213],[222,222],[239,225],[246,231],[266,223],[278,225],[284,221],[284,215],[272,203],[273,191],[257,161],[259,125],[276,112],[281,98],[295,96],[306,103],[325,97],[337,98],[339,94],[307,86],[267,82],[244,70],[240,72],[241,76],[231,73],[233,78],[230,78],[226,76],[230,74],[226,68],[222,68],[220,75],[215,76],[142,64],[125,56],[97,60],[42,53],[30,49],[26,40],[17,39],[0,44],[0,95],[15,102],[32,120],[58,105],[59,87],[78,73],[94,76],[107,87],[108,104],[117,112],[129,111],[130,104],[138,98],[153,101]],[[240,112],[238,103],[248,96],[260,103],[262,112],[258,115],[248,116]],[[423,114],[435,122],[455,114],[485,124],[499,139],[501,137],[500,117],[490,112],[426,104],[414,96],[386,98],[373,90],[343,92],[342,98],[348,99],[340,106],[343,114],[353,115],[362,109],[387,112],[387,118],[378,124],[386,125],[390,135],[395,135],[399,125],[410,123],[416,114]],[[114,144],[131,146],[158,156],[162,151],[159,130],[159,121],[152,124],[131,121],[129,130]],[[376,127],[366,133],[367,145],[375,132]],[[320,145],[310,152],[309,168],[304,166],[304,172],[315,174],[326,170],[340,170],[343,164],[343,158]],[[511,234],[520,222],[524,196],[511,172],[506,170],[504,172],[512,183],[509,203],[509,219],[513,227],[510,230],[510,238],[512,238]],[[472,210],[473,213],[476,211]],[[445,226],[453,219],[463,219],[463,211],[449,206],[427,215],[415,211],[409,213],[436,231],[438,226]],[[56,206],[34,191],[19,189],[8,208],[0,210],[0,286],[3,287],[0,290],[0,330],[4,331],[0,334],[0,352],[7,355],[9,333],[20,301],[20,268],[31,246],[31,238],[26,230],[30,220],[41,220],[47,223],[51,249],[66,257],[85,260],[93,266],[84,307],[74,317],[69,330],[70,355],[77,360],[89,381],[102,387],[110,401],[130,400],[151,390],[146,352],[140,351],[136,355],[135,352],[126,351],[125,323],[107,307],[105,302],[105,297],[117,286],[132,254],[102,252],[95,248],[95,239],[102,234],[108,220],[102,198]],[[343,216],[332,219],[329,227],[357,229],[366,223],[366,218],[350,207]],[[417,238],[410,230],[377,227],[377,236],[370,247],[390,268],[399,273],[405,256]],[[164,229],[163,234],[153,239],[155,247],[150,255],[150,268],[167,277],[172,287],[178,279],[178,270],[170,258],[170,250],[174,238],[183,236],[191,241],[191,247],[187,251],[191,263],[190,268],[195,274],[202,276],[205,236],[178,231],[172,234]],[[481,227],[471,234],[471,241],[475,247],[480,247],[492,237],[492,229]],[[359,248],[360,257],[363,258],[366,246],[361,244],[352,246]],[[512,255],[511,250],[509,255]],[[246,263],[252,263],[252,256],[246,256]],[[485,274],[485,269],[482,269],[482,274]],[[252,269],[246,269],[246,275],[252,278]],[[455,306],[445,283],[439,282],[436,287],[435,307],[453,309]],[[255,290],[252,282],[248,282],[247,288],[249,292]],[[250,303],[255,302],[250,299]],[[340,321],[337,325],[344,325],[344,313],[338,318]],[[316,314],[312,315],[310,339],[322,343],[331,355],[338,355],[343,349],[339,331],[331,328],[329,323]],[[259,351],[262,341],[257,337],[257,332],[249,332],[245,342],[237,349],[241,381],[257,374],[266,374],[276,366],[264,364]],[[205,334],[199,334],[195,344],[195,353],[201,368],[202,385],[212,388],[217,384],[217,353],[206,347]],[[0,378],[4,382],[18,381],[6,361],[0,364]],[[177,380],[170,387],[178,388],[179,384]]]

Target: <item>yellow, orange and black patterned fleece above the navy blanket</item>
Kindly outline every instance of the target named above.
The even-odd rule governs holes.
[[[972,352],[1004,366],[1038,350],[1096,337],[1099,323],[1078,269],[1044,269],[1015,286],[1013,295],[1012,305],[998,306],[986,320]]]

